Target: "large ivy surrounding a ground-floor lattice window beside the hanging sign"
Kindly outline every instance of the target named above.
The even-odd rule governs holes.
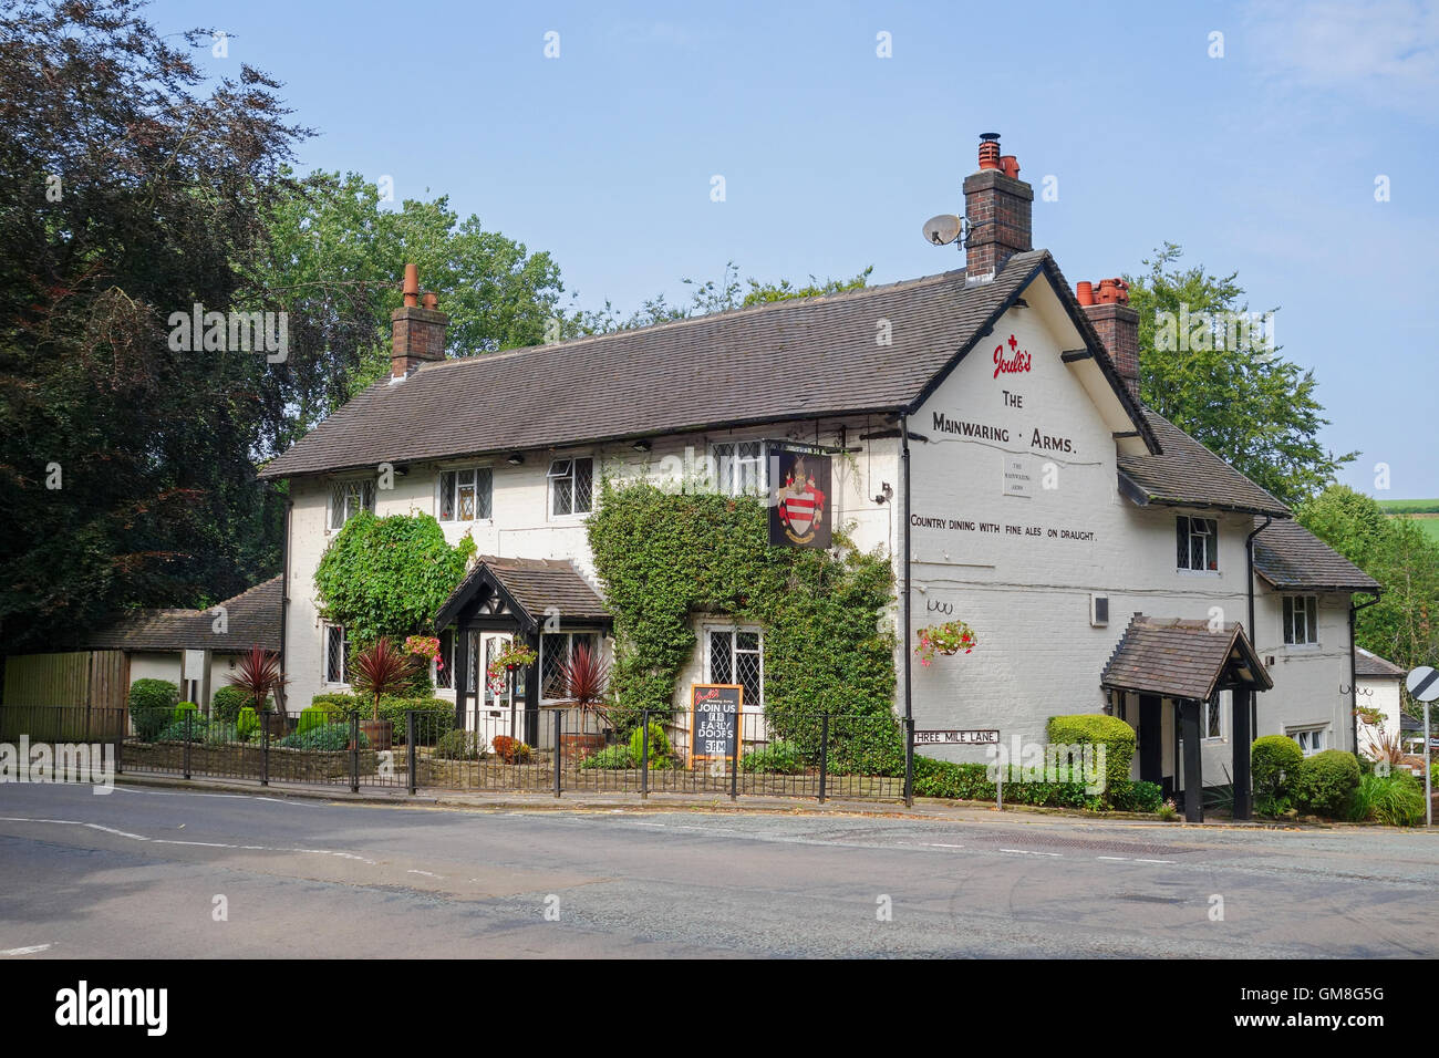
[[[675,682],[696,645],[692,616],[724,613],[764,629],[764,711],[776,737],[817,749],[817,713],[846,723],[836,763],[902,767],[894,721],[894,599],[884,554],[835,534],[836,554],[770,547],[754,498],[675,495],[652,484],[603,484],[590,548],[614,615],[610,685],[622,724],[640,708],[672,708]]]

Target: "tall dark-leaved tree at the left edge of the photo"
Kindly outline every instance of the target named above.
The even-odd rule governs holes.
[[[0,9],[0,629],[53,648],[102,613],[213,602],[279,564],[255,479],[266,357],[171,341],[226,311],[305,131],[242,65],[132,0]]]

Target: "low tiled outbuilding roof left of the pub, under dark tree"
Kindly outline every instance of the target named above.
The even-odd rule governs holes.
[[[281,579],[271,577],[207,610],[138,610],[85,638],[92,651],[226,651],[252,646],[279,649]],[[219,607],[226,630],[214,630]]]

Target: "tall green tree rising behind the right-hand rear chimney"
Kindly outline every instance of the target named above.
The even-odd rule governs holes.
[[[1223,456],[1286,504],[1315,495],[1357,453],[1318,440],[1322,417],[1312,371],[1279,356],[1238,273],[1180,268],[1164,243],[1147,275],[1130,276],[1140,314],[1140,394],[1144,403]],[[1271,317],[1272,318],[1272,317]]]

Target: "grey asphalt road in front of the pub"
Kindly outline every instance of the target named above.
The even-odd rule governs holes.
[[[0,880],[10,959],[1439,954],[1439,836],[1380,829],[4,785]]]

